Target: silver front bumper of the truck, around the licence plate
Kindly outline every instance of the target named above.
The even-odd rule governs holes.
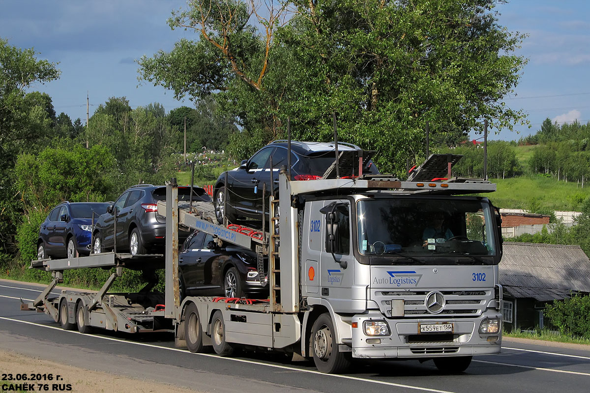
[[[358,328],[352,329],[353,358],[433,358],[437,356],[470,356],[499,354],[501,334],[480,335],[481,322],[500,318],[497,312],[484,313],[477,318],[387,319],[379,311],[352,318]],[[389,336],[367,336],[363,322],[386,321]],[[419,323],[453,323],[452,333],[418,333]]]

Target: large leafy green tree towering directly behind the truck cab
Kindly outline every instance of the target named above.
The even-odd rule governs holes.
[[[296,1],[283,22],[280,6],[261,18],[240,0],[198,0],[169,19],[198,41],[143,57],[139,72],[176,97],[214,93],[240,122],[234,153],[285,136],[288,116],[294,138],[331,140],[337,113],[342,140],[378,150],[382,170],[401,173],[424,156],[427,121],[436,137],[481,131],[481,118],[494,128],[523,120],[501,101],[526,62],[512,54],[523,35],[497,24],[495,4]]]

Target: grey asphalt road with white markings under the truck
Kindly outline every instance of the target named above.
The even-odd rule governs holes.
[[[125,377],[216,392],[588,392],[590,349],[504,340],[499,355],[476,356],[466,372],[444,375],[432,361],[355,362],[350,374],[325,375],[313,363],[241,353],[192,354],[171,335],[63,331],[44,313],[20,311],[42,288],[0,280],[0,348]],[[54,293],[58,293],[54,290]],[[27,371],[23,371],[27,372]],[[83,377],[81,377],[83,378]],[[140,383],[140,382],[138,382]]]

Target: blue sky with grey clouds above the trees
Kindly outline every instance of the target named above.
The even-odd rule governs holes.
[[[0,0],[0,38],[58,63],[58,80],[32,88],[51,96],[57,114],[80,117],[85,124],[87,94],[90,116],[109,97],[123,96],[132,108],[160,103],[168,112],[194,105],[138,81],[135,61],[160,49],[170,51],[181,38],[196,38],[166,24],[173,9],[185,7],[186,0]],[[559,124],[590,121],[590,2],[512,0],[496,11],[508,31],[529,35],[516,52],[529,62],[504,102],[524,110],[530,128],[490,130],[489,138],[534,134],[545,118]]]

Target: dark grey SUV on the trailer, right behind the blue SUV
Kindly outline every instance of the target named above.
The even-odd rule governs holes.
[[[179,201],[188,202],[190,196],[190,186],[178,187]],[[139,184],[129,187],[107,208],[107,213],[97,220],[94,226],[93,253],[113,250],[115,242],[117,252],[129,252],[132,255],[162,251],[165,245],[166,217],[158,214],[159,200],[166,200],[166,186]],[[192,200],[211,202],[211,198],[200,187],[193,187]],[[189,233],[179,231],[179,242],[183,242]]]

